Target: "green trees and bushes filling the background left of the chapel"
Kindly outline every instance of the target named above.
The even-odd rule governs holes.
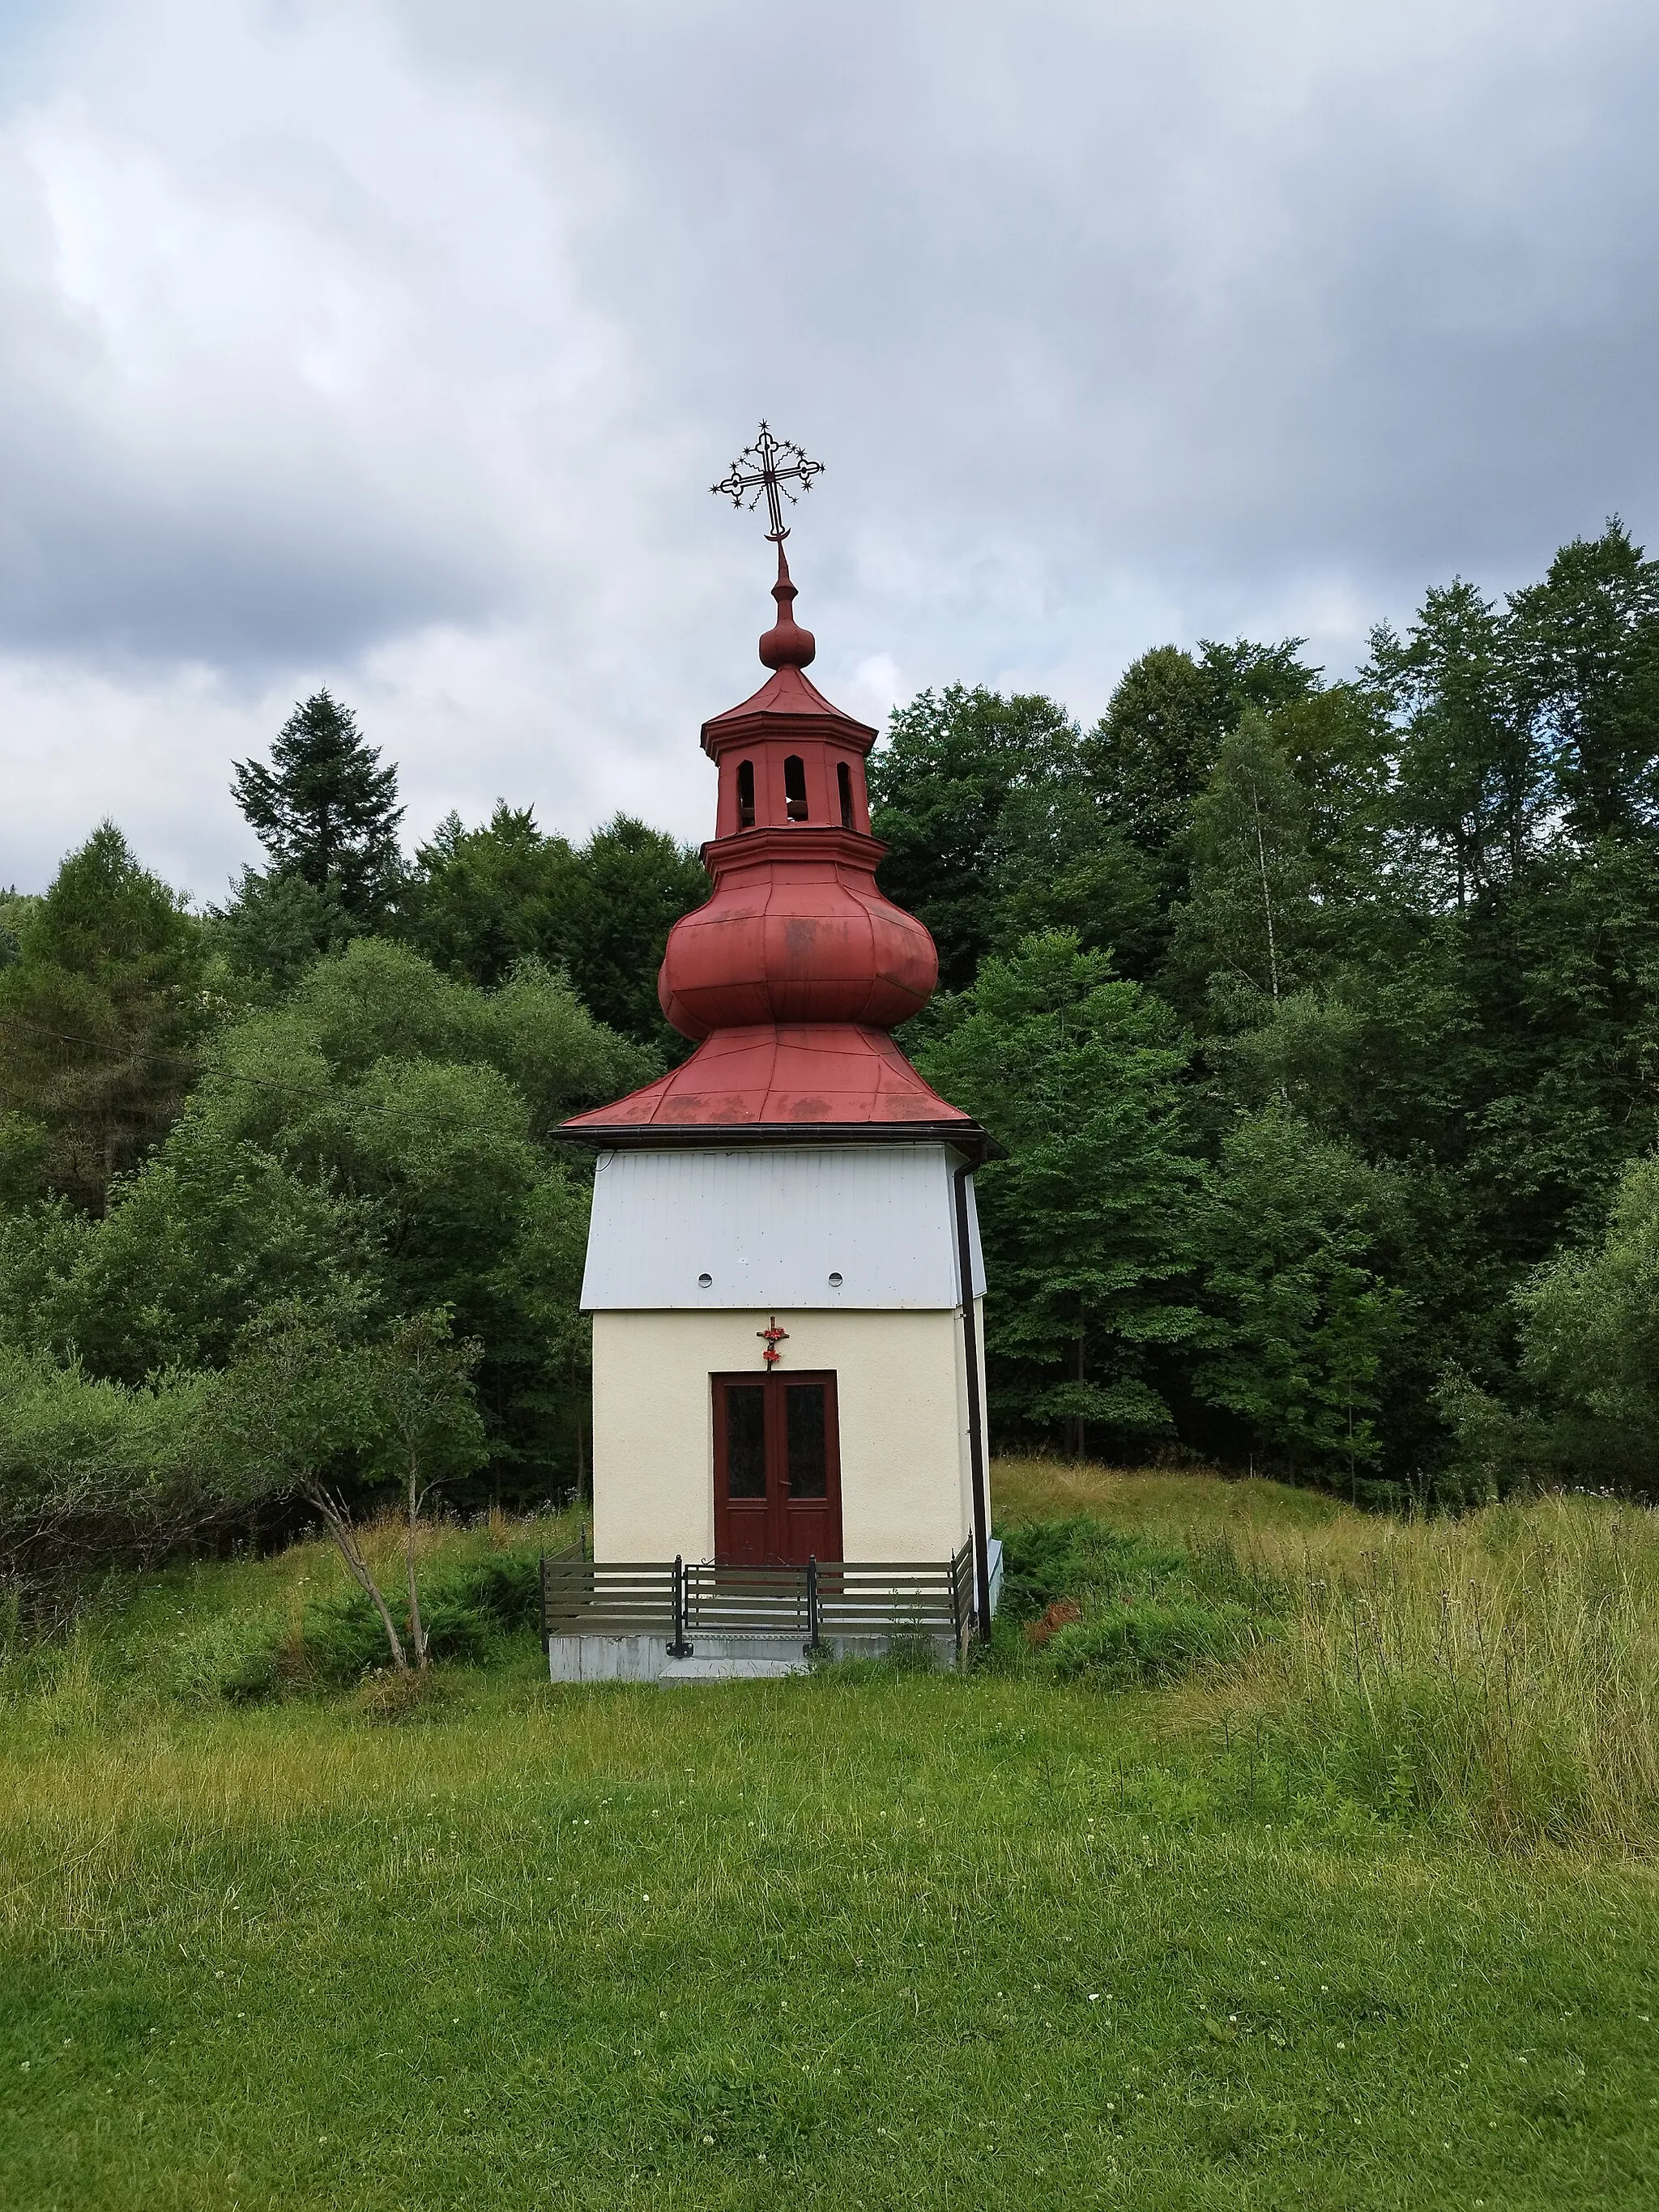
[[[684,1051],[655,973],[701,863],[635,821],[571,845],[509,807],[405,860],[396,772],[325,692],[237,796],[270,858],[223,909],[186,911],[113,825],[0,907],[13,1568],[385,1480],[374,1409],[416,1325],[469,1347],[482,1429],[456,1502],[584,1480],[588,1164],[551,1130]],[[294,1442],[252,1482],[228,1409],[283,1340],[345,1365],[296,1385],[310,1460]]]

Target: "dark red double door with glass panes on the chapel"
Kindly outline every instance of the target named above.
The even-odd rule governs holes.
[[[834,1371],[710,1376],[714,1559],[776,1566],[841,1557]]]

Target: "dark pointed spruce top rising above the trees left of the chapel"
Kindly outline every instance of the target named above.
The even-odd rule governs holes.
[[[281,728],[270,768],[237,761],[232,794],[270,854],[272,874],[332,889],[358,918],[392,896],[398,863],[398,770],[363,741],[356,714],[312,692]]]

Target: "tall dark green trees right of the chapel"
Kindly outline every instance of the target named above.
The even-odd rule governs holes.
[[[1356,1495],[1650,1486],[1659,564],[1613,522],[1360,672],[1159,648],[1093,730],[953,688],[876,757],[953,987],[998,1420]]]

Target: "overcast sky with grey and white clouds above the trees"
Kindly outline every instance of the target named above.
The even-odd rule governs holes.
[[[712,830],[765,414],[814,677],[1093,719],[1659,540],[1652,0],[0,0],[0,885],[221,898],[327,684],[449,807]]]

